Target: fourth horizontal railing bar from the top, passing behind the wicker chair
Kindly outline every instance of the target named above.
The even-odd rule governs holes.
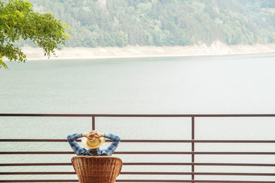
[[[124,162],[124,166],[153,165],[153,166],[275,166],[275,164],[251,163],[192,163],[192,162]],[[72,163],[2,163],[0,166],[72,166]]]

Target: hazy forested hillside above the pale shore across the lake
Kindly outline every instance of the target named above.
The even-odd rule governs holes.
[[[69,25],[69,47],[275,43],[273,0],[29,1]]]

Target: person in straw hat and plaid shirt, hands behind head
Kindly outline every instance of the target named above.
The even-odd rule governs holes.
[[[81,142],[84,147],[80,147],[76,139],[82,138]],[[100,145],[105,142],[105,138],[112,140],[107,149],[99,149]],[[112,155],[120,143],[120,137],[112,133],[103,133],[102,131],[89,131],[89,133],[74,133],[67,136],[69,145],[76,155]]]

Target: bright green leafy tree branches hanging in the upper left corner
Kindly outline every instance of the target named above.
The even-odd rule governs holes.
[[[28,1],[0,1],[0,68],[8,68],[3,57],[10,61],[26,61],[25,54],[14,43],[29,39],[43,48],[45,55],[54,54],[58,44],[69,36],[65,23],[56,20],[50,12],[39,14]]]

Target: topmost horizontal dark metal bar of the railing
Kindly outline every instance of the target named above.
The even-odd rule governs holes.
[[[275,114],[0,114],[33,117],[275,117]]]

